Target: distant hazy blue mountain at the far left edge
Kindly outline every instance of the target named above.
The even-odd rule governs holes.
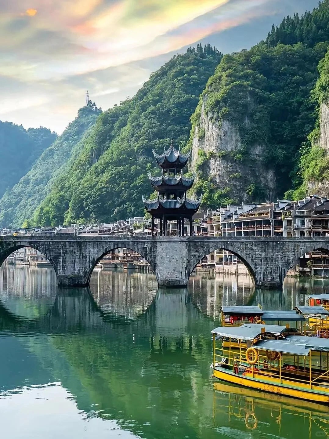
[[[47,128],[30,128],[0,121],[0,197],[24,176],[56,139]]]

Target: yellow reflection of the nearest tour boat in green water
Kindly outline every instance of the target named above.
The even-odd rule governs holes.
[[[257,429],[258,435],[261,434],[257,437],[311,439],[329,436],[328,406],[312,402],[308,402],[307,406],[298,405],[297,401],[293,405],[294,399],[287,396],[218,381],[213,383],[213,388],[213,419],[219,433],[233,427],[236,437],[244,437],[237,434],[239,430]]]

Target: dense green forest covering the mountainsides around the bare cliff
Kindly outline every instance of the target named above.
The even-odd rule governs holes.
[[[172,136],[184,150],[213,138],[212,150],[193,151],[189,170],[197,174],[203,208],[267,199],[257,171],[263,180],[272,176],[271,199],[303,197],[310,180],[329,176],[327,151],[316,141],[320,104],[329,91],[328,45],[324,0],[312,12],[284,18],[249,50],[223,56],[209,44],[190,47],[152,73],[134,97],[104,112],[90,103],[48,148],[46,140],[34,140],[39,147],[27,148],[31,160],[24,173],[14,180],[14,171],[5,170],[0,224],[144,215],[141,195],[151,194],[147,174],[157,172],[152,149],[163,151]],[[223,139],[216,137],[233,135],[221,131],[224,125],[238,137],[233,149],[221,149]],[[217,134],[207,132],[214,126]],[[19,135],[32,142],[32,133]],[[260,162],[261,171],[250,172]],[[218,183],[219,173],[225,184]]]

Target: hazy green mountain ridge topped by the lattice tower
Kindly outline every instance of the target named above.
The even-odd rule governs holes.
[[[89,101],[85,107],[80,108],[77,117],[69,123],[61,136],[55,141],[56,137],[53,136],[51,141],[44,145],[41,150],[43,153],[36,157],[38,159],[32,169],[29,169],[1,198],[0,225],[21,226],[25,219],[32,216],[39,203],[50,193],[57,175],[65,172],[68,160],[72,155],[78,154],[80,140],[86,130],[95,123],[99,114],[100,110]],[[30,129],[28,133],[37,143],[38,130]],[[45,139],[46,137],[43,142]]]

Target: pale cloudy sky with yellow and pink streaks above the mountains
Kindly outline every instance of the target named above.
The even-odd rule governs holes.
[[[61,133],[86,102],[133,96],[174,54],[263,40],[318,0],[0,0],[0,120]]]

